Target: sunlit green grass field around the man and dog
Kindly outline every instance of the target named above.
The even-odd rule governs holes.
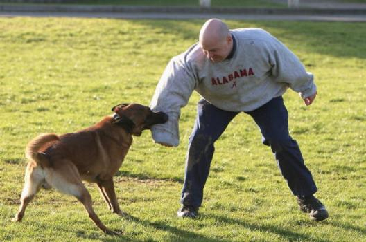
[[[366,26],[355,23],[227,21],[272,32],[315,74],[318,97],[284,100],[290,132],[330,217],[298,211],[260,133],[238,115],[216,143],[197,220],[180,220],[187,139],[197,94],[182,109],[181,144],[134,139],[117,174],[130,214],[111,214],[96,185],[94,210],[120,237],[102,234],[75,198],[42,190],[22,223],[12,223],[24,180],[24,147],[38,133],[67,133],[98,122],[121,102],[149,104],[168,60],[198,36],[202,20],[0,19],[0,241],[365,241]]]

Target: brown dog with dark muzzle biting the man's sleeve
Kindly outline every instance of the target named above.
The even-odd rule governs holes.
[[[114,192],[113,176],[132,144],[132,135],[140,136],[153,124],[166,122],[168,115],[154,113],[140,104],[120,104],[112,111],[114,115],[87,129],[62,136],[45,133],[28,143],[28,166],[21,205],[12,221],[21,221],[26,206],[41,187],[53,187],[64,194],[76,196],[85,206],[89,218],[103,232],[117,234],[99,220],[92,207],[92,197],[82,180],[96,183],[110,210],[122,216]]]

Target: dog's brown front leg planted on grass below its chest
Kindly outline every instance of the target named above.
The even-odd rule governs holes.
[[[116,192],[114,191],[114,183],[113,178],[107,178],[106,180],[98,181],[98,187],[101,189],[103,196],[105,196],[105,200],[109,202],[110,210],[114,214],[118,214],[119,216],[126,216],[125,212],[121,211],[119,208],[119,203],[116,197]]]

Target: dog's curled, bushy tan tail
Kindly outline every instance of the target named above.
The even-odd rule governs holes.
[[[31,140],[26,146],[26,158],[28,160],[34,160],[37,165],[48,167],[49,159],[45,153],[40,152],[40,149],[49,142],[55,142],[60,138],[55,133],[42,133],[33,140]]]

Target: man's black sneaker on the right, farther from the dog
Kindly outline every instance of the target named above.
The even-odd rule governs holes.
[[[329,216],[325,206],[315,196],[297,197],[297,204],[300,210],[308,213],[314,221],[322,221]]]

